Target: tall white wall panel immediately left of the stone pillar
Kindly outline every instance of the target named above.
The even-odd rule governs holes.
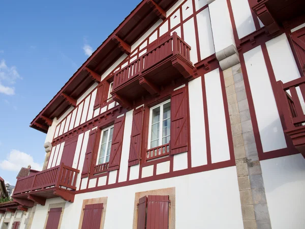
[[[205,74],[204,77],[212,163],[230,160],[219,69]]]

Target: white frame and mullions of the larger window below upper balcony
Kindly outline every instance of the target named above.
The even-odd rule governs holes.
[[[167,103],[170,103],[170,110],[171,110],[171,105],[172,105],[171,104],[171,99],[167,99],[167,100],[165,100],[165,101],[163,101],[161,103],[158,103],[157,105],[152,106],[152,107],[149,108],[147,150],[152,149],[151,146],[150,146],[150,144],[151,144],[151,125],[152,125],[152,122],[153,122],[152,117],[153,117],[153,110],[158,108],[158,107],[160,107],[160,120],[159,120],[159,123],[160,123],[159,127],[160,127],[160,129],[159,129],[159,146],[157,146],[157,147],[163,146],[163,144],[162,144],[162,138],[163,138],[162,130],[163,130],[163,121],[164,121],[163,120],[163,105],[167,104]],[[170,128],[169,128],[169,131],[170,131]],[[169,136],[170,136],[170,134],[169,134]]]

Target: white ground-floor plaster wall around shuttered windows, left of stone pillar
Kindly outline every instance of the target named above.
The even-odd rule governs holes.
[[[83,199],[103,196],[108,197],[104,228],[132,228],[135,193],[169,187],[175,187],[176,229],[243,228],[235,166],[77,194],[74,203],[66,204],[62,228],[78,228]]]

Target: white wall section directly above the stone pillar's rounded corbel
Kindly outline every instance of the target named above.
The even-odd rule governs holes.
[[[235,45],[227,0],[215,0],[208,5],[215,51]]]

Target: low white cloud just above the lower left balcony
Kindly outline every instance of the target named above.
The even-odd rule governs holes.
[[[19,150],[11,150],[7,160],[0,161],[0,168],[8,171],[19,171],[21,167],[32,166],[32,169],[41,170],[42,165],[34,162],[31,155]]]

